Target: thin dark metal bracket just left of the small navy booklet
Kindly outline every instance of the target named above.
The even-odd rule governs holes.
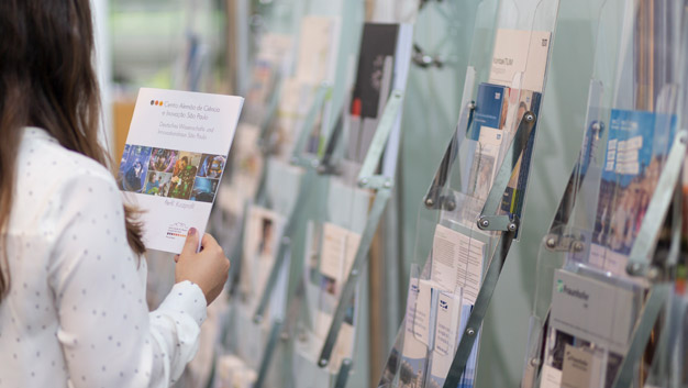
[[[466,137],[466,133],[473,123],[473,112],[476,110],[476,103],[470,101],[462,110],[456,131],[450,141],[450,145],[444,152],[440,167],[435,173],[435,177],[432,180],[432,185],[428,189],[424,203],[429,209],[442,209],[446,208],[452,211],[456,208],[456,199],[453,196],[442,196],[442,190],[446,185],[452,170],[452,165],[458,155],[460,142]]]

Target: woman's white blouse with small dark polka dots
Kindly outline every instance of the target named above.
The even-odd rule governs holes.
[[[198,350],[201,289],[179,282],[149,312],[145,259],[126,242],[111,173],[33,128],[16,163],[0,388],[174,384]]]

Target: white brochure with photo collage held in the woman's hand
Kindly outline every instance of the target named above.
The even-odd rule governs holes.
[[[244,99],[142,88],[120,163],[125,201],[144,212],[147,248],[181,252],[202,235]]]

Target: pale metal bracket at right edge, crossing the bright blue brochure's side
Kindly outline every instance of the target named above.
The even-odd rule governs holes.
[[[662,231],[669,204],[674,199],[674,190],[680,179],[687,143],[688,130],[681,130],[672,144],[657,187],[647,206],[645,219],[637,232],[637,239],[633,242],[626,266],[626,271],[631,276],[646,276],[650,273],[650,257]]]

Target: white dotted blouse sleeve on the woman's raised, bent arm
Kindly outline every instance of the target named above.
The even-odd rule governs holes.
[[[57,339],[74,387],[168,387],[198,350],[206,299],[189,281],[148,312],[114,180],[86,175],[59,190],[49,270]]]

